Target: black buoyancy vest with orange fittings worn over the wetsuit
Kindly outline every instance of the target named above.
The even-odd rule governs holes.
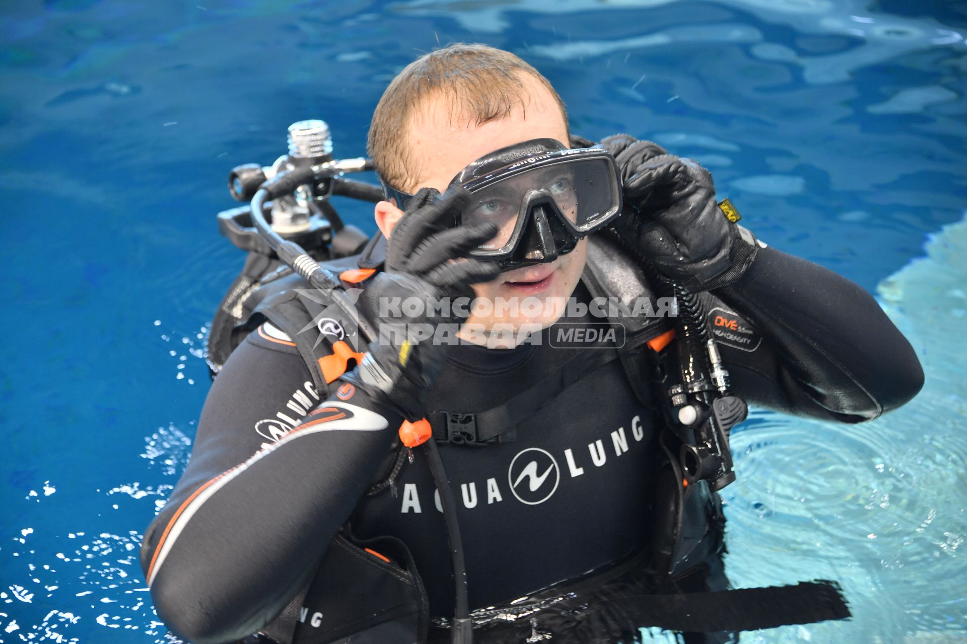
[[[330,259],[320,266],[338,277],[345,293],[358,295],[365,290],[366,280],[381,268],[385,243],[385,238],[377,236],[368,242],[362,254]],[[352,322],[346,320],[342,310],[331,305],[328,294],[312,289],[308,282],[288,266],[278,263],[278,260],[256,257],[260,254],[254,251],[250,253],[243,274],[222,300],[213,322],[208,348],[213,376],[251,330],[262,322],[271,322],[295,343],[315,387],[325,399],[330,394],[329,385],[362,360],[367,348],[366,340]],[[617,298],[630,303],[645,297],[652,301],[653,311],[659,311],[662,306],[639,263],[615,238],[606,235],[588,238],[587,263],[581,279],[593,298]],[[674,311],[671,313],[674,315]],[[484,412],[430,413],[427,419],[433,427],[434,438],[454,444],[475,445],[493,440],[513,440],[513,434],[506,432],[514,425],[507,422],[509,418],[526,417],[537,410],[548,394],[559,391],[583,373],[615,359],[620,360],[638,401],[643,406],[659,410],[667,418],[671,408],[660,392],[669,390],[680,381],[677,354],[672,342],[675,334],[672,321],[664,315],[622,317],[620,322],[609,316],[608,323],[623,327],[624,344],[619,350],[584,350],[559,373],[535,383],[503,405]],[[671,426],[671,423],[667,425]],[[815,583],[755,589],[785,591],[783,597],[773,595],[772,600],[768,596],[764,599],[761,595],[742,596],[742,591],[731,591],[727,593],[728,597],[724,597],[724,592],[689,593],[689,599],[696,602],[694,606],[707,608],[705,614],[695,616],[692,613],[696,608],[688,601],[668,600],[669,597],[682,597],[682,589],[671,580],[670,574],[700,541],[699,538],[688,543],[688,539],[683,539],[683,523],[709,520],[718,528],[720,539],[723,518],[718,495],[710,492],[704,481],[688,486],[688,489],[683,485],[684,474],[677,456],[682,438],[665,430],[659,442],[667,458],[668,472],[663,483],[656,488],[654,503],[658,510],[657,517],[663,519],[657,521],[657,535],[653,539],[650,560],[645,562],[645,566],[656,574],[657,588],[661,594],[652,598],[638,598],[641,601],[654,599],[654,602],[646,602],[651,608],[639,611],[641,618],[650,620],[652,624],[642,623],[641,626],[665,625],[664,628],[696,631],[740,630],[751,619],[749,616],[761,611],[764,601],[772,602],[772,606],[780,603],[785,606],[784,612],[779,611],[781,616],[775,614],[774,610],[771,620],[778,620],[776,625],[833,618],[833,615],[827,614],[829,610],[823,612],[818,609],[816,614],[823,616],[812,618],[809,610],[799,605],[810,602],[817,592],[835,594],[828,586]],[[380,472],[370,493],[385,488],[392,481],[403,458],[405,449],[400,446],[395,458]],[[374,557],[367,554],[373,551],[369,546],[379,548],[380,561],[374,561]],[[441,551],[441,556],[447,554]],[[353,537],[348,524],[328,548],[315,574],[309,577],[309,581],[278,618],[260,633],[280,644],[294,641],[297,623],[307,617],[301,612],[312,587],[312,578],[353,579],[351,585],[360,591],[352,592],[352,597],[358,599],[352,602],[345,601],[344,588],[338,593],[330,593],[332,597],[314,598],[315,604],[329,605],[330,614],[339,615],[340,618],[330,621],[325,633],[316,631],[312,642],[348,642],[350,639],[356,644],[425,641],[428,605],[419,573],[406,546],[389,538],[378,545],[362,543]],[[332,589],[332,584],[323,585]],[[317,586],[312,588],[311,592],[318,592],[315,590]],[[836,602],[830,600],[829,604]],[[841,605],[841,601],[836,605]],[[736,614],[741,619],[729,621]],[[723,620],[723,615],[728,617]],[[331,639],[325,639],[327,635]]]

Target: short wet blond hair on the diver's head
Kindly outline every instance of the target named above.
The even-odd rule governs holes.
[[[550,92],[567,128],[568,111],[550,82],[509,51],[454,42],[413,61],[396,75],[373,111],[366,151],[376,172],[394,188],[414,191],[420,178],[413,170],[412,151],[403,132],[423,101],[448,98],[456,114],[479,126],[508,116],[514,105],[525,106],[528,90],[524,75],[532,76]],[[453,115],[452,111],[451,118]]]

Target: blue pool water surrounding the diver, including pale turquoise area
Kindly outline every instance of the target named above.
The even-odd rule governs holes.
[[[4,3],[0,642],[163,641],[136,553],[242,262],[214,219],[227,171],[306,118],[363,154],[387,82],[454,41],[542,70],[577,133],[698,159],[760,238],[877,294],[921,352],[924,392],[891,416],[760,411],[735,434],[736,585],[839,579],[855,615],[742,641],[967,640],[965,35],[956,1]]]

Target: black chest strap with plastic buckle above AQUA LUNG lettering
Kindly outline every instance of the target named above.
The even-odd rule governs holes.
[[[515,438],[514,427],[518,423],[534,415],[585,374],[617,359],[618,351],[610,347],[585,349],[501,406],[479,413],[431,411],[426,418],[433,428],[433,437],[439,441],[482,444],[498,439],[509,442]]]

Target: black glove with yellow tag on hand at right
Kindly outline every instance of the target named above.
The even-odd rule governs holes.
[[[657,143],[628,134],[601,139],[621,169],[622,238],[687,291],[711,291],[739,279],[758,243],[718,208],[709,172]]]

